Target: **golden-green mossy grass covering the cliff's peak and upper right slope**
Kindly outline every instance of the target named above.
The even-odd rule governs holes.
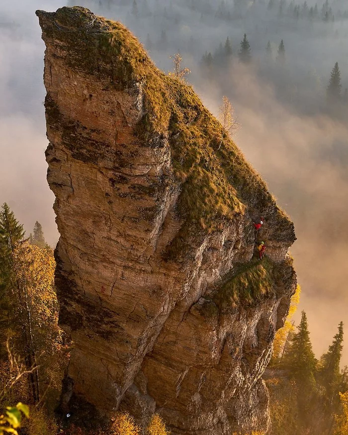
[[[79,6],[36,14],[45,37],[62,48],[58,52],[62,56],[69,52],[64,61],[71,69],[119,90],[141,85],[145,113],[137,135],[143,140],[154,135],[168,138],[180,185],[176,208],[184,224],[168,258],[187,250],[192,232],[204,235],[221,230],[236,214],[252,218],[263,214],[276,224],[273,240],[295,240],[291,221],[234,142],[226,139],[218,150],[221,125],[192,87],[156,68],[127,28]],[[58,107],[54,109],[59,113]]]

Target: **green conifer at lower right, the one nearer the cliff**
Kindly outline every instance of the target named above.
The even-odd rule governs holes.
[[[285,365],[289,367],[291,374],[301,384],[314,384],[314,371],[316,358],[312,350],[309,338],[307,316],[302,311],[298,332],[293,335],[291,344],[285,355]]]

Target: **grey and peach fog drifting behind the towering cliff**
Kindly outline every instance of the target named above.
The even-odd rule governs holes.
[[[169,56],[180,52],[192,71],[189,83],[214,114],[229,96],[241,124],[234,139],[295,223],[299,311],[307,312],[319,357],[338,323],[347,322],[348,102],[342,97],[329,104],[326,88],[336,62],[342,94],[348,87],[348,5],[319,1],[315,14],[315,1],[307,0],[308,9],[301,3],[80,1],[126,24],[160,69],[170,70]],[[0,6],[0,202],[8,202],[28,232],[39,220],[52,245],[58,235],[45,179],[44,44],[34,11],[61,5],[27,0]],[[252,55],[247,65],[238,59],[244,33]],[[233,54],[226,60],[218,50],[227,37]],[[281,39],[283,61],[277,60]],[[212,65],[201,62],[209,52]]]

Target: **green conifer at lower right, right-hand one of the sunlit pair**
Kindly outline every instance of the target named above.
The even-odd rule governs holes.
[[[335,393],[340,383],[340,362],[343,349],[343,322],[339,324],[338,333],[334,336],[332,345],[321,357],[321,376],[330,395]]]

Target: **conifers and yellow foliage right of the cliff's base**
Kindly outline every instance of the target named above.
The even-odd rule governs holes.
[[[304,311],[297,332],[285,329],[287,334],[278,333],[271,368],[266,372],[270,435],[347,434],[348,368],[340,368],[343,323],[320,359],[313,352]]]

